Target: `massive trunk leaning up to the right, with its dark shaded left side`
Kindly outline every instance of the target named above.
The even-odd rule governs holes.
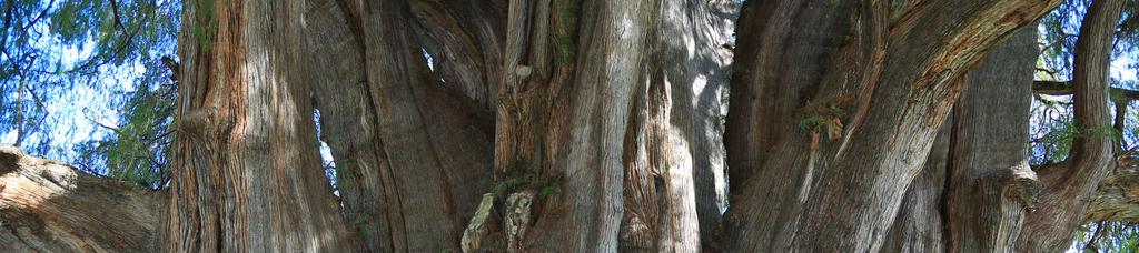
[[[770,29],[767,36],[740,36],[740,51],[747,50],[744,47],[770,48],[745,42],[748,39],[775,41],[771,43],[790,39],[817,41],[834,45],[830,51],[845,47],[833,57],[787,56],[794,61],[752,61],[739,66],[749,69],[752,75],[780,77],[790,74],[779,71],[781,66],[798,69],[801,62],[809,66],[814,62],[819,67],[802,76],[821,76],[821,79],[817,85],[803,82],[800,87],[794,85],[796,78],[792,78],[793,82],[772,82],[775,78],[734,81],[734,91],[738,86],[745,92],[732,96],[731,107],[749,106],[738,106],[745,110],[738,110],[741,115],[735,120],[737,124],[729,119],[728,133],[739,134],[728,138],[732,142],[728,144],[729,166],[731,172],[744,175],[741,192],[753,194],[734,197],[726,214],[723,250],[880,250],[907,186],[925,162],[936,130],[958,96],[960,85],[954,81],[974,66],[981,54],[1057,3],[923,1],[887,24],[886,10],[877,2],[854,8],[838,7],[842,3],[834,1],[803,1],[762,8],[772,11],[761,16],[771,17],[768,23],[744,17],[740,34],[752,32],[744,27],[764,27],[747,24],[756,20],[771,27],[830,20],[834,28],[816,25],[804,28],[811,31],[804,34],[820,37],[816,40],[794,32],[781,34],[778,31],[786,29],[778,28]],[[826,16],[810,16],[811,11]],[[844,12],[846,17],[833,17]],[[781,18],[785,15],[795,18]],[[847,26],[852,28],[845,28]],[[849,40],[835,40],[839,37]],[[772,50],[756,56],[757,59],[779,59],[788,52],[796,51]],[[795,95],[785,95],[790,96],[784,100],[789,107],[762,107],[759,103],[765,99],[755,98],[764,94],[764,87],[769,88],[772,99],[785,94],[786,87],[797,90],[790,90]],[[784,120],[762,117],[769,113]],[[784,129],[782,133],[768,132],[776,133],[769,138],[777,141],[764,143],[760,142],[763,138],[755,137],[757,135],[749,137],[748,133],[757,129],[755,125],[759,124],[738,124],[761,119],[771,123],[764,126],[768,129]],[[773,147],[761,150],[757,147],[761,145]],[[746,160],[764,155],[780,159]],[[731,178],[736,182],[737,177],[732,174]]]

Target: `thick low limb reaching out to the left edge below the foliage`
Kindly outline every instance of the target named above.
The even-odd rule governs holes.
[[[0,252],[154,252],[158,194],[0,146]]]

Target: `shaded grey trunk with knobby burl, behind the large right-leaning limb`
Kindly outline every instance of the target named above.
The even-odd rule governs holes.
[[[1011,252],[1039,192],[1027,167],[1035,27],[969,70],[961,98],[910,185],[887,251]]]

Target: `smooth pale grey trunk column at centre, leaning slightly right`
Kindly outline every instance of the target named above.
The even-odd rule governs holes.
[[[567,108],[571,124],[552,174],[564,177],[526,244],[535,251],[617,250],[624,145],[634,91],[646,85],[642,53],[657,7],[642,1],[583,1]],[[508,43],[509,44],[509,43]],[[509,59],[509,57],[507,58]]]

